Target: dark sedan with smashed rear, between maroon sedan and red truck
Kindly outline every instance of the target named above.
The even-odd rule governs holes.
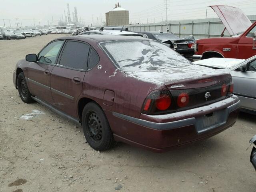
[[[194,55],[195,41],[193,39],[182,39],[172,33],[166,32],[137,32],[144,34],[144,37],[160,41],[170,48],[173,48],[176,52],[184,56],[190,61]]]

